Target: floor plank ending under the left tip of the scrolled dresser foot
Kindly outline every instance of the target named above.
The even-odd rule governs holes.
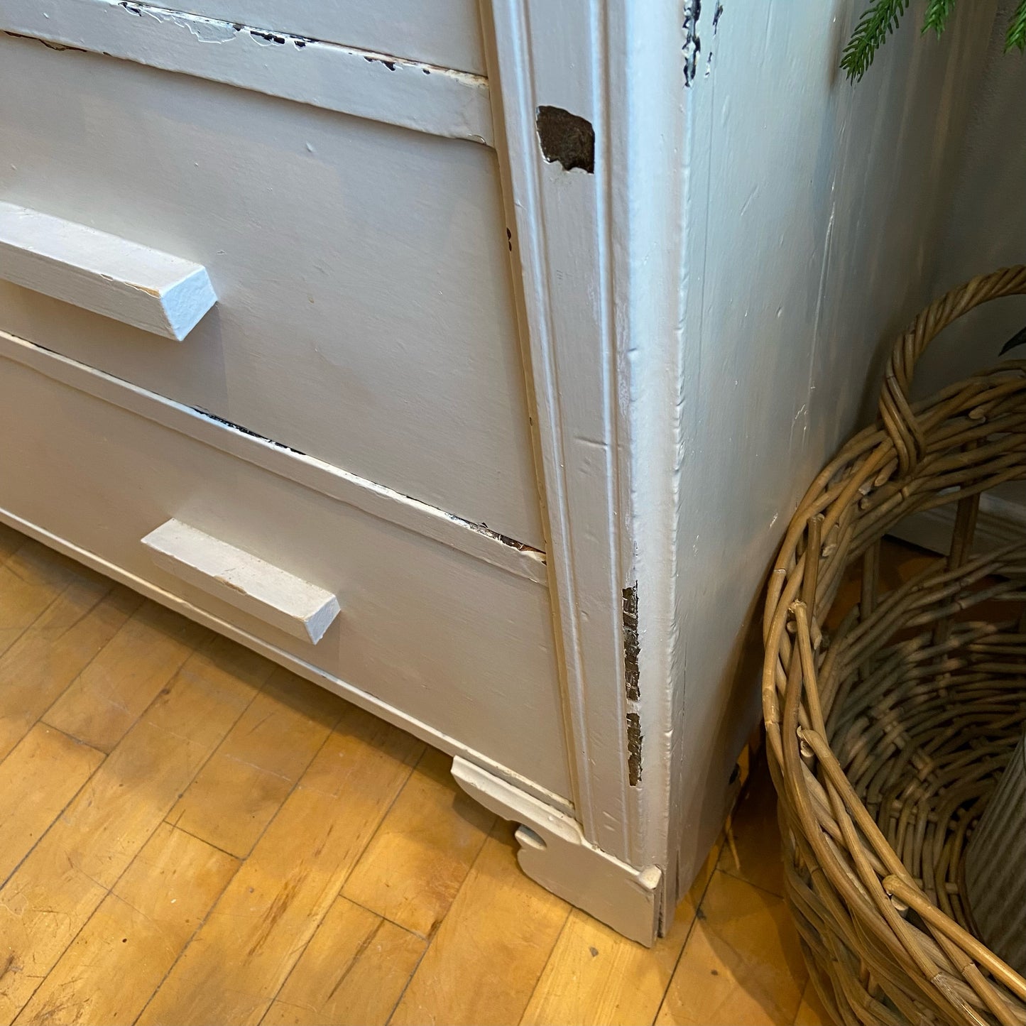
[[[343,889],[422,937],[445,916],[496,822],[456,786],[451,763],[433,748],[424,753]]]

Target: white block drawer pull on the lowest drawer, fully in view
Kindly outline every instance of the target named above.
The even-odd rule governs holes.
[[[320,641],[339,615],[331,592],[180,520],[162,523],[143,544],[187,584],[304,641]]]

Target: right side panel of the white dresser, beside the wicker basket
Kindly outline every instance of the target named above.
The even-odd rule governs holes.
[[[775,550],[808,481],[872,408],[883,347],[931,293],[937,199],[992,17],[962,4],[941,43],[905,25],[853,87],[837,64],[865,0],[723,0],[714,34],[716,6],[699,19],[686,154],[673,667],[683,885],[760,713]],[[921,14],[913,3],[906,17]]]

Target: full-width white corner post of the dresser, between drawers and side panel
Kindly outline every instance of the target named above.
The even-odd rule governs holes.
[[[629,0],[482,0],[482,8],[516,225],[576,810],[589,842],[665,870],[675,861],[672,765],[683,705],[671,687],[682,658],[674,625],[686,182],[679,11],[669,0],[643,9]],[[593,172],[545,159],[542,106],[590,121]],[[624,601],[635,585],[628,604],[636,596],[640,648],[628,679]],[[643,740],[632,753],[635,732]],[[664,893],[672,909],[674,881]]]

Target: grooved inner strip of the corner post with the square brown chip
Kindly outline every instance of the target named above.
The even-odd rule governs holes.
[[[516,220],[574,798],[588,840],[631,861],[620,621],[620,525],[629,517],[620,508],[607,163],[596,94],[601,9],[549,9],[539,0],[490,6],[489,79],[499,82],[501,150]],[[535,127],[543,105],[592,123],[595,173],[544,159]]]

